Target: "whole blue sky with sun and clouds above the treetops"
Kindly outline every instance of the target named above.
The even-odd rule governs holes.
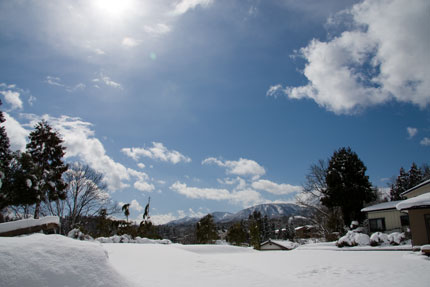
[[[323,3],[322,3],[323,2]],[[67,161],[161,223],[293,202],[350,146],[385,188],[430,158],[429,5],[416,1],[0,3],[14,149],[40,119]]]

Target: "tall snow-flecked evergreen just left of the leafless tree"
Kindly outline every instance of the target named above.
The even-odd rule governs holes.
[[[46,121],[35,126],[29,139],[27,152],[35,167],[31,182],[36,192],[34,218],[39,218],[42,202],[66,198],[66,184],[62,180],[62,175],[67,170],[67,165],[62,160],[65,148],[59,134]]]

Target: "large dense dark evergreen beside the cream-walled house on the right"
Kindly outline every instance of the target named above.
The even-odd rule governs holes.
[[[349,147],[334,152],[327,169],[326,183],[321,203],[331,209],[340,207],[346,224],[363,220],[361,209],[364,203],[376,199],[376,192],[366,175],[366,166]]]

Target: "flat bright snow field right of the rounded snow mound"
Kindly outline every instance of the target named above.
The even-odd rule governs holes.
[[[138,286],[428,286],[430,260],[407,251],[255,251],[217,245],[103,244]]]

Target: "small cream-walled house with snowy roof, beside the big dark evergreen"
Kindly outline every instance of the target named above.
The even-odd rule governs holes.
[[[389,201],[365,207],[361,212],[367,214],[369,231],[404,231],[409,226],[409,217],[406,212],[396,209],[396,205],[402,202]]]

